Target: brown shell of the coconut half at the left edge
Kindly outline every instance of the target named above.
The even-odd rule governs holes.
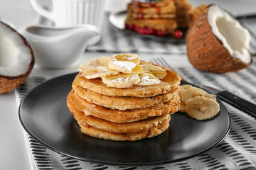
[[[7,25],[6,23],[3,23],[0,21],[0,24],[7,26],[12,31],[17,33],[19,35],[19,37],[21,38],[21,40],[23,40],[24,45],[28,48],[30,55],[31,55],[28,69],[23,74],[20,74],[17,76],[6,76],[6,75],[0,74],[0,94],[4,94],[4,93],[11,92],[11,90],[18,87],[20,84],[22,84],[28,78],[28,75],[31,73],[31,71],[33,69],[33,65],[35,63],[35,57],[33,55],[33,50],[31,49],[31,45],[29,45],[26,38],[24,38],[21,34],[19,34],[16,30],[14,30],[14,28],[11,28],[11,26]]]

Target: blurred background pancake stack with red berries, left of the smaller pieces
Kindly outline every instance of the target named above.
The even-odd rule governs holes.
[[[173,34],[177,28],[174,0],[154,2],[132,1],[127,6],[125,26],[149,35]]]

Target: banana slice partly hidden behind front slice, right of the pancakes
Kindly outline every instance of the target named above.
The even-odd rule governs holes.
[[[204,91],[203,89],[191,86],[191,88],[183,91],[181,93],[181,102],[185,103],[190,100],[191,98],[194,98],[196,96],[204,96],[206,98],[210,98],[213,100],[216,100],[215,95],[213,94],[208,94],[206,91]]]

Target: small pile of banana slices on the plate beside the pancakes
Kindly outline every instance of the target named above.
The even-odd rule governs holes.
[[[180,86],[178,92],[181,98],[180,112],[188,113],[191,118],[205,120],[213,118],[220,112],[220,105],[216,101],[215,95],[198,87],[184,84]]]

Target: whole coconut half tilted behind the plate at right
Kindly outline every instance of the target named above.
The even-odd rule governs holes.
[[[248,67],[250,33],[227,11],[211,4],[193,21],[186,36],[188,60],[197,69],[224,73]]]

